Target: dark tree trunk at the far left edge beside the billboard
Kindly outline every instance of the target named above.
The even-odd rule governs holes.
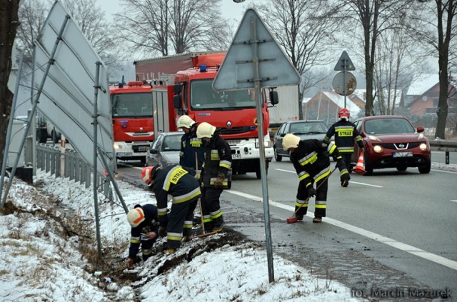
[[[3,164],[9,119],[12,119],[13,93],[8,89],[8,80],[11,73],[14,38],[19,24],[18,9],[19,0],[0,1],[0,166]],[[3,186],[3,183],[0,185]]]

